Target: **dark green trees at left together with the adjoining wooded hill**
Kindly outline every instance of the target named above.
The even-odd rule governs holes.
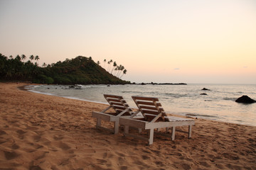
[[[0,54],[0,79],[5,81],[31,81],[38,84],[129,84],[113,76],[96,64],[92,57],[78,56],[72,60],[48,64],[38,67],[39,57],[5,57]],[[46,64],[43,64],[46,66]]]

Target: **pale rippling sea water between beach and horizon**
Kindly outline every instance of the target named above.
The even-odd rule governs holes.
[[[202,91],[203,88],[210,91]],[[64,85],[30,86],[30,91],[85,101],[107,103],[103,94],[123,96],[136,108],[131,96],[159,98],[166,113],[189,115],[228,123],[256,125],[256,103],[236,103],[240,96],[256,100],[256,85],[188,84],[188,85]],[[201,95],[201,94],[207,95]]]

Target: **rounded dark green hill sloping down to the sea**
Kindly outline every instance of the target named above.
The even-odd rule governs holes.
[[[53,84],[129,84],[96,64],[91,57],[78,56],[41,68],[33,82]]]

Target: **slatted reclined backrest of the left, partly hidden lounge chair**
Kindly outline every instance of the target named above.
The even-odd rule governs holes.
[[[123,115],[132,115],[132,109],[129,108],[128,103],[124,100],[122,96],[104,94],[103,95],[110,106],[114,109],[116,113],[122,113],[122,111],[127,109],[127,112]]]

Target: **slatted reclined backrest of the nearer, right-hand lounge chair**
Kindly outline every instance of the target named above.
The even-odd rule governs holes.
[[[156,120],[165,120],[164,116],[166,116],[166,113],[164,112],[164,108],[161,107],[161,103],[159,103],[159,98],[132,96],[132,99],[146,121],[155,122]]]

